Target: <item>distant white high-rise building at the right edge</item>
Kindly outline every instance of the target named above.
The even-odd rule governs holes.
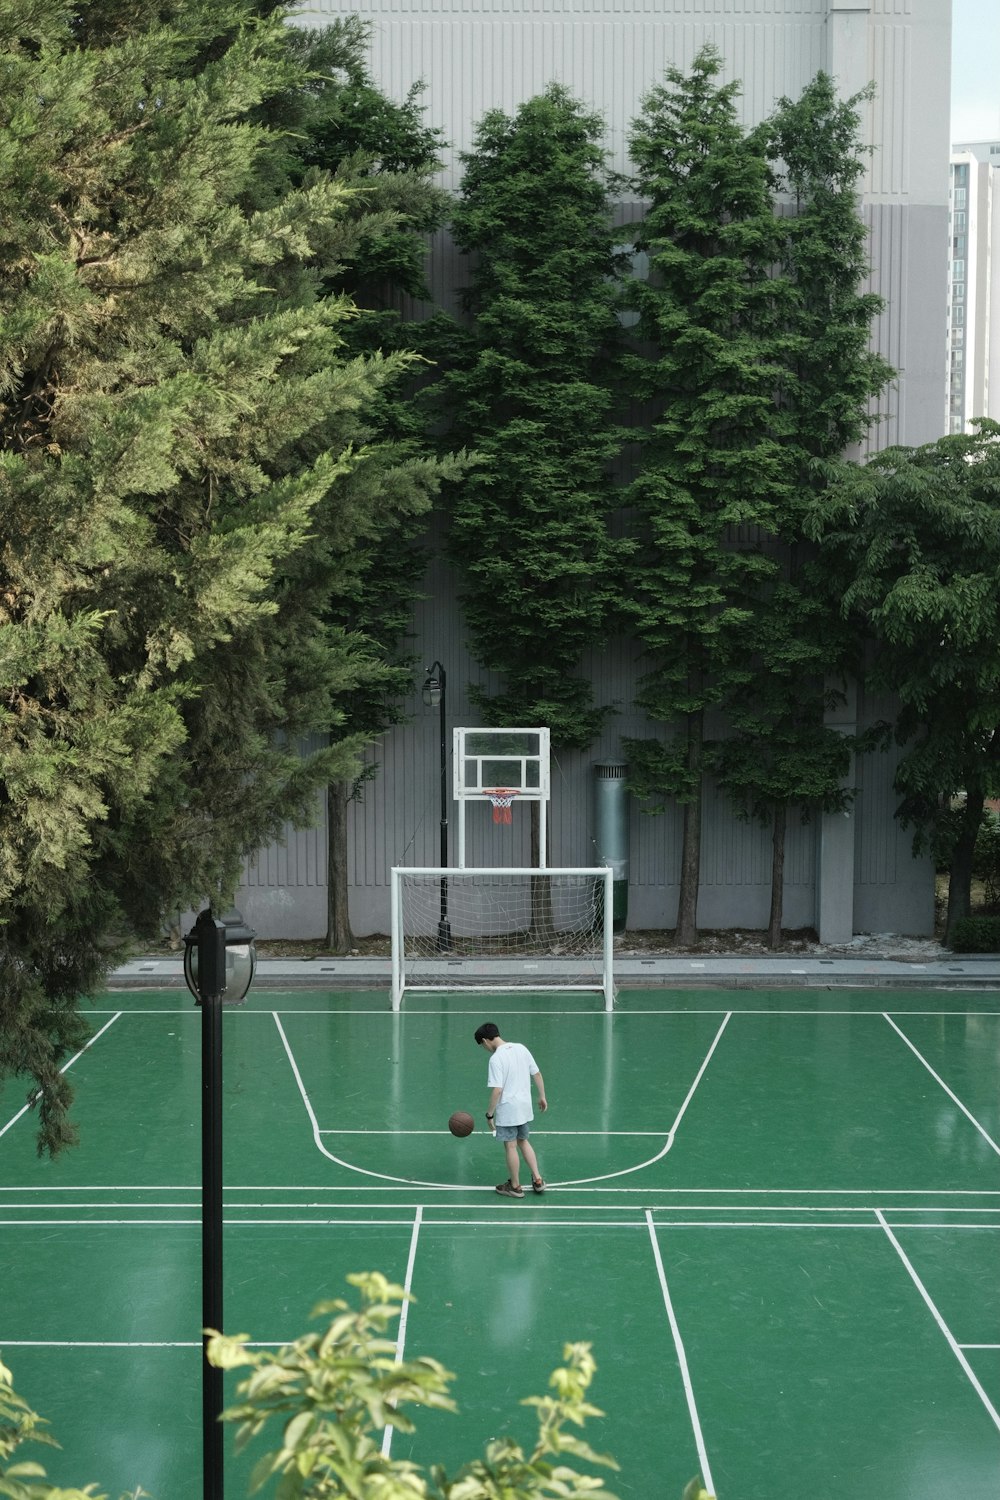
[[[1000,420],[1000,141],[952,147],[949,230],[946,418],[966,432]]]

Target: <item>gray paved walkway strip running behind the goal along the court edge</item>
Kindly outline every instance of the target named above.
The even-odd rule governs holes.
[[[538,972],[547,964],[538,963]],[[552,962],[550,978],[558,976],[558,960]],[[696,958],[688,954],[658,958],[616,958],[615,980],[619,988],[636,986],[706,987],[706,988],[775,988],[789,986],[811,988],[823,986],[855,986],[862,988],[1000,988],[1000,954],[946,954],[942,958],[825,958],[822,956],[732,956]],[[388,988],[388,958],[261,958],[255,988],[273,990],[360,990]],[[180,957],[151,956],[133,958],[115,969],[108,988],[136,990],[144,987],[174,988],[184,984]]]

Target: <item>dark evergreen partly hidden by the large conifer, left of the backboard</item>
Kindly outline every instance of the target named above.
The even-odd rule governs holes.
[[[345,244],[342,262],[327,270],[324,290],[349,294],[363,310],[346,328],[357,354],[421,348],[421,324],[403,321],[399,306],[403,296],[427,297],[427,236],[450,208],[448,195],[433,182],[442,141],[424,123],[421,90],[414,86],[397,104],[376,87],[366,62],[369,32],[358,16],[292,30],[289,46],[307,70],[309,87],[270,100],[267,110],[267,118],[288,132],[292,182],[333,171],[352,189],[357,234]],[[424,375],[420,386],[426,381]],[[382,670],[337,694],[339,736],[375,741],[403,718],[403,699],[412,690],[405,638],[426,567],[427,501],[444,477],[463,472],[456,454],[433,462],[415,387],[411,380],[384,390],[366,412],[369,448],[354,476],[354,484],[363,482],[367,489],[366,528],[352,538],[352,576],[339,580],[328,620],[363,634]],[[327,790],[327,945],[334,952],[346,952],[352,942],[348,804],[375,772],[369,765],[363,777],[333,780]]]

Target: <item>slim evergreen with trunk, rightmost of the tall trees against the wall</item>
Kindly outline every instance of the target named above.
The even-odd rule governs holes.
[[[838,100],[832,80],[820,74],[798,102],[781,99],[756,132],[778,174],[778,202],[790,210],[780,219],[786,328],[774,424],[792,483],[775,522],[783,579],[754,603],[714,765],[736,802],[772,831],[771,946],[781,942],[792,807],[807,816],[850,800],[843,777],[852,746],[825,724],[825,714],[858,666],[858,640],[799,538],[805,510],[822,498],[844,448],[864,436],[873,399],[892,375],[870,348],[882,300],[862,290],[870,267],[858,212],[867,156],[859,106],[867,98]]]

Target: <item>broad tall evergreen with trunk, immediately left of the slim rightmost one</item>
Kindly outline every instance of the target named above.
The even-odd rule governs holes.
[[[676,938],[697,938],[705,712],[726,699],[756,591],[777,564],[789,474],[775,434],[784,279],[763,144],[736,118],[714,48],[669,69],[631,134],[648,210],[636,246],[649,280],[630,298],[643,351],[628,362],[648,404],[628,490],[640,548],[628,597],[649,669],[637,694],[666,738],[630,740],[633,790],[684,807]]]

